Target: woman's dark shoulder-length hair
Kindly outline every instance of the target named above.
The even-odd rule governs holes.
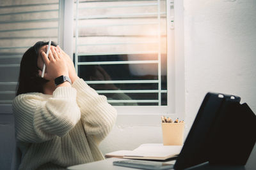
[[[16,96],[28,92],[43,93],[43,85],[49,80],[46,80],[38,75],[39,67],[37,66],[38,51],[42,46],[48,45],[49,42],[38,41],[34,46],[31,46],[22,56],[20,61],[20,74],[17,85]],[[57,46],[52,42],[51,45]]]

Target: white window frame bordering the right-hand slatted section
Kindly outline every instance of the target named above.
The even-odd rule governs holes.
[[[171,4],[175,8],[171,14]],[[60,46],[73,58],[73,21],[74,1],[63,0],[63,39]],[[171,16],[173,15],[174,16]],[[184,83],[184,14],[183,1],[166,0],[167,20],[167,106],[114,106],[118,115],[169,115],[184,118],[185,83]],[[174,21],[174,22],[172,22]],[[172,25],[173,24],[173,25]],[[174,28],[171,28],[171,25]],[[170,53],[172,52],[172,53]],[[173,82],[173,83],[170,83]],[[171,96],[172,95],[172,96]]]

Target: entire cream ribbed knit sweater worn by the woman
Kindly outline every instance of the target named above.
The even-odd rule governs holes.
[[[13,100],[19,169],[63,169],[104,159],[98,145],[115,124],[116,110],[83,79],[52,95],[20,94]]]

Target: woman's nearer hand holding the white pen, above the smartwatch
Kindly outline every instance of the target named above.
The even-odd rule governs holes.
[[[51,46],[48,57],[44,51],[42,51],[41,53],[42,59],[45,63],[46,71],[44,74],[44,78],[46,80],[54,80],[61,75],[69,76],[67,62],[65,59],[63,59],[60,52],[56,52],[54,46]],[[39,71],[39,76],[41,75],[42,71]]]

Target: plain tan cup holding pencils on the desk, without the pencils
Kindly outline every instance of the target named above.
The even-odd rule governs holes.
[[[183,145],[184,123],[162,123],[163,145]]]

